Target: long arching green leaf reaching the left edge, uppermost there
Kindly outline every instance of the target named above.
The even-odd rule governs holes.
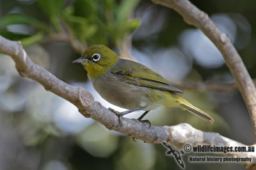
[[[0,20],[0,25],[13,25],[13,24],[26,24],[26,25],[31,25],[33,27],[36,27],[38,29],[44,30],[46,32],[49,32],[49,27],[47,24],[44,22],[40,22],[36,20],[35,18],[26,16],[26,15],[21,15],[21,14],[10,14],[4,16]]]

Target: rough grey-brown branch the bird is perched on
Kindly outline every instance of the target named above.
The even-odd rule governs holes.
[[[216,145],[216,146],[246,146],[232,139],[225,138],[214,132],[199,131],[191,125],[179,124],[173,126],[157,127],[147,125],[138,120],[123,118],[123,125],[119,127],[118,117],[100,103],[95,102],[92,94],[81,87],[73,87],[59,80],[43,67],[35,64],[26,54],[20,42],[10,41],[0,36],[0,52],[10,55],[15,61],[17,71],[20,76],[28,77],[38,81],[41,85],[60,97],[63,97],[70,103],[73,103],[79,109],[84,117],[91,117],[100,124],[105,125],[109,130],[122,132],[141,139],[147,143],[162,143],[163,141],[171,145],[182,147],[189,145]],[[227,156],[232,157],[250,157],[252,162],[246,162],[246,166],[256,165],[255,153],[230,152]]]

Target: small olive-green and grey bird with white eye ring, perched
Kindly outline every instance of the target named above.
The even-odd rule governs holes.
[[[188,110],[207,122],[214,120],[188,101],[178,96],[182,90],[172,87],[162,76],[132,60],[119,59],[115,52],[104,45],[93,45],[84,51],[81,62],[88,72],[93,87],[106,101],[121,108],[124,112],[113,111],[122,124],[122,116],[136,110],[145,110],[138,120],[155,108],[164,105]]]

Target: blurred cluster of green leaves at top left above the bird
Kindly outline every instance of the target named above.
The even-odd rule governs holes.
[[[43,41],[45,36],[58,32],[67,32],[82,43],[104,44],[118,46],[124,36],[131,34],[140,24],[136,18],[131,18],[132,11],[138,0],[116,3],[114,0],[92,1],[76,0],[38,0],[39,13],[47,20],[24,13],[10,13],[1,18],[1,34],[10,39],[19,39],[25,46]],[[22,24],[33,28],[28,34],[7,31],[8,25]],[[16,38],[19,37],[19,38]]]

